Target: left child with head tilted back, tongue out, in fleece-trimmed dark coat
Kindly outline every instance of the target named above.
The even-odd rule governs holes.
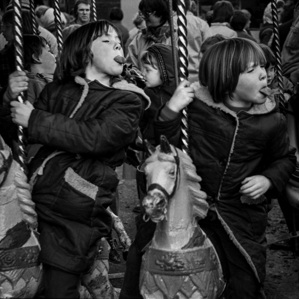
[[[113,78],[123,71],[120,32],[106,20],[69,35],[60,56],[61,82],[46,85],[35,104],[10,104],[28,142],[44,145],[29,165],[38,214],[46,298],[79,298],[98,242],[112,228],[115,167],[135,139],[148,101],[142,90]]]

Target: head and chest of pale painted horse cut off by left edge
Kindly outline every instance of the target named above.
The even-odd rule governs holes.
[[[37,215],[26,177],[1,137],[0,152],[0,166],[7,164],[0,174],[0,298],[33,298],[42,279]]]

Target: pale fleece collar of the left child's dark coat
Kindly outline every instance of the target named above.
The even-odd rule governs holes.
[[[72,112],[72,114],[70,115],[70,118],[73,118],[75,113],[78,111],[78,109],[82,106],[87,94],[88,94],[88,90],[89,90],[89,86],[88,83],[86,82],[86,80],[80,76],[76,76],[75,77],[75,82],[79,85],[83,86],[83,92],[81,95],[81,98],[76,106],[76,108],[74,109],[74,111]],[[144,98],[144,100],[147,103],[146,109],[149,108],[150,106],[150,100],[149,97],[145,94],[145,92],[137,87],[136,85],[132,84],[132,83],[128,83],[126,80],[122,80],[120,82],[116,82],[113,84],[112,87],[107,86],[107,88],[112,88],[112,89],[120,89],[120,90],[127,90],[127,91],[131,91],[134,92],[135,94],[138,94],[140,96],[142,96]]]

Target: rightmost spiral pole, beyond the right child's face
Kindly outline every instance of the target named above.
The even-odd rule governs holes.
[[[284,87],[283,87],[283,71],[282,71],[282,59],[281,59],[281,48],[280,48],[280,38],[278,30],[278,11],[277,11],[277,0],[272,0],[272,20],[273,20],[273,44],[274,53],[276,58],[276,71],[277,71],[277,81],[279,89],[279,102],[282,108],[286,108],[285,97],[284,97]]]

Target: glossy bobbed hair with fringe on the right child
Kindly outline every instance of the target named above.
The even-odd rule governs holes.
[[[259,45],[246,38],[230,38],[211,46],[199,64],[199,82],[206,86],[215,103],[233,98],[239,76],[251,62],[265,65],[266,58]]]

